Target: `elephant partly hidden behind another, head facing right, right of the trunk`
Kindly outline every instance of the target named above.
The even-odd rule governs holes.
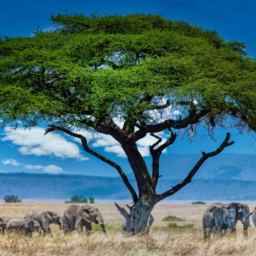
[[[227,209],[233,209],[235,215],[236,225],[237,222],[240,220],[244,226],[244,236],[248,234],[248,228],[250,226],[250,219],[247,216],[250,214],[250,209],[247,204],[241,203],[229,203],[229,204],[222,204],[222,203],[215,203],[212,206],[224,206]]]

